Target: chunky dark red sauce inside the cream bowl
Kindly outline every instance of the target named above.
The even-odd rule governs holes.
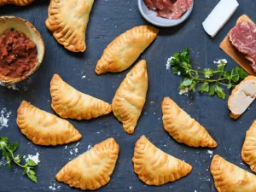
[[[13,29],[0,37],[0,73],[19,78],[29,73],[38,61],[36,44],[22,32]]]

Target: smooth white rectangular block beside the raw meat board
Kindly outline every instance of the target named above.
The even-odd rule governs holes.
[[[225,23],[230,20],[238,6],[236,0],[220,0],[202,24],[205,31],[214,38]]]

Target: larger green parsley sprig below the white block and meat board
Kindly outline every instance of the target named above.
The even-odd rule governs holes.
[[[191,67],[189,49],[183,49],[181,53],[175,53],[169,64],[174,74],[182,75],[183,82],[179,85],[179,90],[193,90],[195,92],[197,84],[201,93],[207,92],[209,96],[217,95],[225,99],[223,87],[230,89],[235,86],[240,79],[245,79],[247,73],[241,67],[235,67],[231,71],[226,71],[226,63],[221,61],[217,69],[205,68],[202,71],[194,70]]]

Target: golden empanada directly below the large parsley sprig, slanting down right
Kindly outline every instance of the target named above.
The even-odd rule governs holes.
[[[185,143],[190,147],[217,147],[207,130],[179,108],[171,98],[164,98],[162,113],[165,130],[178,143]]]

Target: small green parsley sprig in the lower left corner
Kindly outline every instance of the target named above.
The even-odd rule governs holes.
[[[17,166],[20,166],[24,169],[23,175],[26,175],[29,177],[33,182],[37,183],[38,178],[36,176],[36,173],[33,171],[35,166],[38,166],[37,163],[35,163],[33,160],[26,160],[26,164],[23,166],[20,164],[21,158],[24,156],[24,154],[18,154],[15,156],[14,152],[18,148],[19,143],[15,142],[13,144],[9,144],[8,137],[0,137],[0,151],[3,152],[3,158],[7,160],[7,167],[9,169],[12,168],[11,163],[14,162]]]

